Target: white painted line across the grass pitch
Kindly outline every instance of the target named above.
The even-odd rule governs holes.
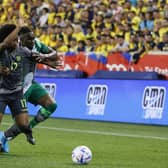
[[[2,125],[11,125],[11,123],[3,122]],[[147,135],[139,135],[139,134],[102,132],[102,131],[95,131],[95,130],[81,130],[81,129],[57,128],[57,127],[47,127],[47,126],[37,126],[36,128],[38,128],[38,129],[48,129],[48,130],[57,130],[57,131],[64,131],[64,132],[85,133],[85,134],[97,134],[97,135],[110,135],[110,136],[131,137],[131,138],[168,140],[168,137],[159,137],[159,136],[151,136],[151,135],[147,136]]]

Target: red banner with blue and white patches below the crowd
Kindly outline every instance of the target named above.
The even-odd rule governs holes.
[[[97,71],[156,72],[168,79],[168,52],[149,52],[137,64],[132,63],[125,53],[112,53],[107,57],[100,53],[84,52],[67,52],[62,55],[64,55],[62,71],[79,70],[87,76],[92,76]],[[38,69],[49,67],[39,64]]]

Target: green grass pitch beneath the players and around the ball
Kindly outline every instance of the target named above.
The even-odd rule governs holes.
[[[12,123],[5,115],[1,130]],[[36,145],[20,135],[10,152],[0,154],[0,168],[168,168],[168,127],[48,119],[34,128]],[[88,146],[93,159],[75,165],[71,151]]]

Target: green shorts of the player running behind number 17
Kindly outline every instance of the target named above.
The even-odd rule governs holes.
[[[44,87],[42,87],[39,83],[33,82],[24,96],[26,101],[37,105],[38,100],[46,94],[48,94],[48,92]]]

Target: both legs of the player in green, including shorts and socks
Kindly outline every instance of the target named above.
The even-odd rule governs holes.
[[[55,101],[39,84],[33,84],[26,92],[25,98],[35,105],[39,104],[42,106],[37,115],[30,121],[29,125],[31,128],[46,120],[56,110],[57,105]],[[20,133],[21,130],[17,124],[13,124],[8,130],[5,131],[5,135],[8,140],[14,139]]]

